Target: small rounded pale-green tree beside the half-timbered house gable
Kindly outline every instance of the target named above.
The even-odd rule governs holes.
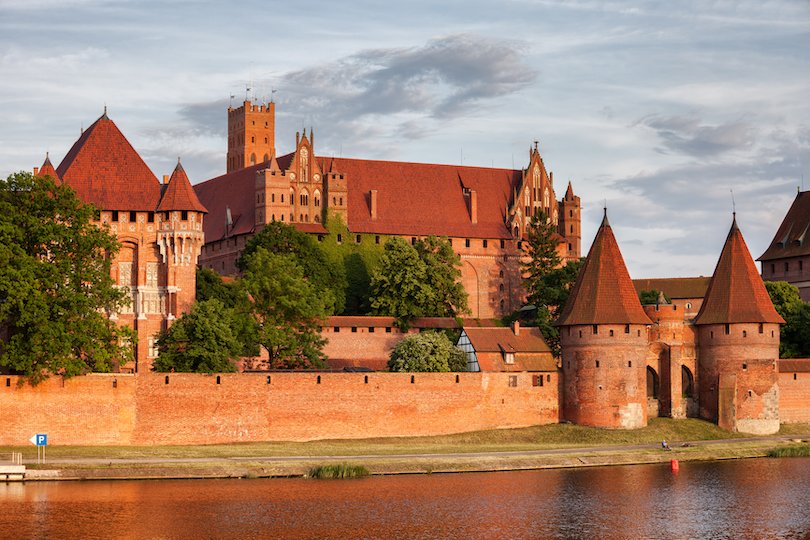
[[[466,371],[467,355],[440,332],[412,334],[388,360],[390,371]]]

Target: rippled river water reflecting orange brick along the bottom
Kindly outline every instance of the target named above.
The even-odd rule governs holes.
[[[1,538],[810,538],[810,458],[0,484]]]

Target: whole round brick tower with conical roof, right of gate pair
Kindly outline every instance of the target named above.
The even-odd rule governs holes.
[[[698,326],[700,415],[721,428],[779,431],[779,325],[736,216],[720,253]]]

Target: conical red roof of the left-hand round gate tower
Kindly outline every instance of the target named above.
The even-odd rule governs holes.
[[[652,324],[630,280],[607,211],[555,324]]]

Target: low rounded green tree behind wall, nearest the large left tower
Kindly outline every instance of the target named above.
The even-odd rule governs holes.
[[[236,371],[231,361],[241,345],[231,331],[233,310],[219,300],[197,302],[189,313],[161,332],[160,356],[152,369],[194,373]]]

